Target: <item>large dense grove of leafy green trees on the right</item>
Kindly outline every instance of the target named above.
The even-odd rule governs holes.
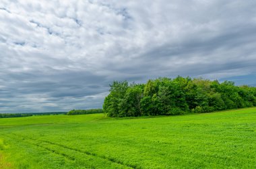
[[[256,87],[203,78],[157,78],[146,84],[114,81],[104,99],[110,117],[181,115],[256,106]]]

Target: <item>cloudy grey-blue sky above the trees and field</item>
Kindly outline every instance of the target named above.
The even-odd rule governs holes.
[[[256,85],[255,0],[1,0],[0,112],[100,108],[113,80]]]

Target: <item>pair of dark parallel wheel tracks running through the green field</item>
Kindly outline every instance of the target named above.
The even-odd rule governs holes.
[[[100,156],[98,154],[95,154],[93,152],[88,152],[88,151],[85,151],[85,150],[79,150],[79,149],[76,149],[76,148],[70,148],[68,146],[65,146],[63,144],[57,144],[57,143],[54,143],[54,142],[49,142],[49,141],[45,141],[45,140],[40,140],[40,139],[34,139],[32,137],[28,137],[26,136],[23,137],[22,135],[18,135],[18,134],[14,134],[12,133],[12,135],[15,135],[16,137],[21,137],[22,139],[31,139],[33,141],[36,141],[36,142],[42,142],[42,143],[46,143],[46,144],[51,144],[51,145],[54,145],[54,146],[59,146],[61,148],[65,148],[65,149],[68,149],[68,150],[72,150],[72,151],[75,151],[75,152],[79,152],[79,153],[82,153],[82,154],[86,154],[88,156],[94,156],[96,158],[101,158],[101,159],[104,159],[104,160],[108,160],[109,162],[113,162],[115,164],[119,164],[121,166],[125,166],[127,168],[134,168],[134,169],[139,169],[141,167],[139,166],[136,166],[134,164],[125,164],[124,162],[122,162],[121,160],[117,160],[115,158],[111,158],[111,157],[107,157],[107,156]],[[36,144],[33,144],[34,146],[39,146],[39,145],[36,145]],[[42,148],[45,148],[46,150],[49,150],[55,154],[58,154],[58,152],[56,152],[55,150],[51,150],[50,148],[47,148],[47,147],[44,147],[44,146],[39,146],[39,147],[42,147]],[[66,158],[70,159],[70,160],[75,160],[75,158],[71,157],[71,156],[68,156],[67,154],[59,154],[61,156],[65,156]]]

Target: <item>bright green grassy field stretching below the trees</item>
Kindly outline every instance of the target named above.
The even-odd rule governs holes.
[[[256,168],[256,108],[0,119],[0,168]]]

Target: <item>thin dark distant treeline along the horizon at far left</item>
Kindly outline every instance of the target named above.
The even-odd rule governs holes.
[[[0,118],[28,117],[32,115],[60,115],[67,112],[46,112],[46,113],[0,113]]]

